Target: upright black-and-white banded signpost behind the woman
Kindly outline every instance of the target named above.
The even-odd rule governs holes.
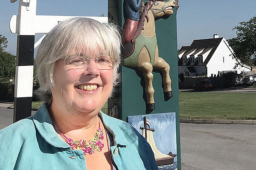
[[[16,0],[11,0],[15,2]],[[36,0],[20,0],[16,17],[17,59],[13,122],[31,115]]]

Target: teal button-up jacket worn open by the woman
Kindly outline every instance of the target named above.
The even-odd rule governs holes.
[[[100,112],[113,135],[111,157],[118,170],[158,170],[154,154],[131,125]],[[72,150],[55,132],[47,107],[0,130],[0,170],[86,170],[82,150]]]

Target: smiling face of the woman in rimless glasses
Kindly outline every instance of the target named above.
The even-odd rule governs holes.
[[[99,112],[113,88],[113,68],[99,70],[90,59],[84,68],[74,68],[64,59],[56,62],[52,104],[66,111]]]

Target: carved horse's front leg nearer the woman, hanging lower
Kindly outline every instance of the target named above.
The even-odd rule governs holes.
[[[154,105],[154,88],[152,85],[153,81],[153,66],[151,65],[150,62],[144,62],[138,66],[138,69],[142,71],[144,81],[145,81],[145,94],[147,98],[147,110],[148,111],[153,111],[155,109]]]

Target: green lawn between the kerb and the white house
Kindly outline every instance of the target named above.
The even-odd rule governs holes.
[[[180,92],[182,119],[256,119],[256,93]]]

